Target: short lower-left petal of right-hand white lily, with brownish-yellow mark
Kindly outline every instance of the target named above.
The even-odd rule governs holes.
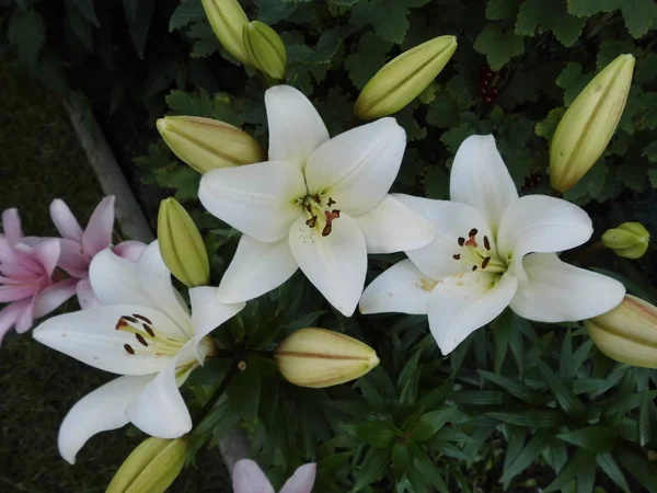
[[[406,259],[390,267],[365,288],[360,313],[399,312],[427,314],[429,295],[436,280],[427,278]]]

